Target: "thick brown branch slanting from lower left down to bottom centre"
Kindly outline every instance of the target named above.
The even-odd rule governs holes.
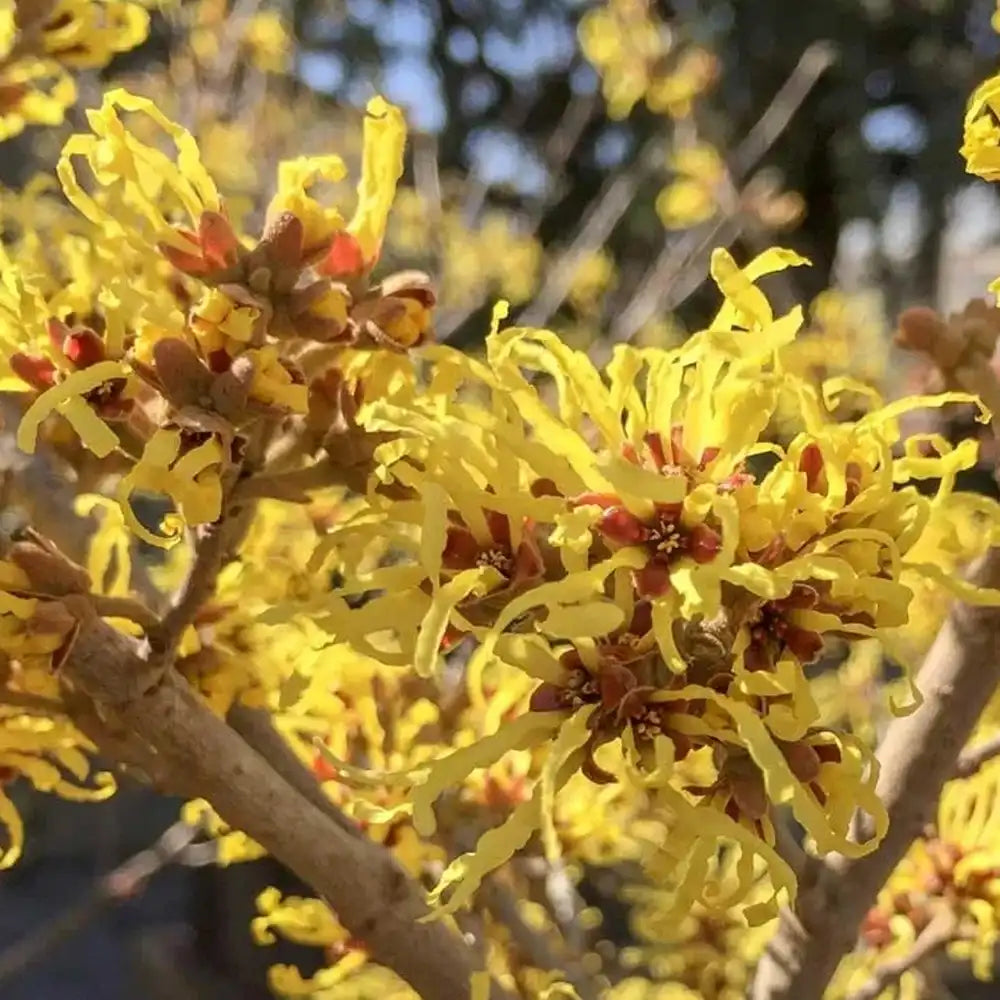
[[[126,678],[146,666],[133,640],[94,615],[63,666],[77,686],[155,752],[169,775],[197,788],[244,831],[330,902],[374,961],[424,1000],[465,1000],[474,971],[462,941],[428,914],[423,893],[391,854],[334,822],[216,717],[173,671],[151,687]],[[493,1000],[510,1000],[493,985]]]

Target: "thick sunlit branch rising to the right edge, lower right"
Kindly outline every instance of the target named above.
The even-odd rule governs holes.
[[[971,574],[1000,586],[1000,549]],[[1000,682],[1000,608],[953,606],[920,669],[924,702],[893,720],[879,748],[877,792],[889,831],[867,857],[831,855],[812,886],[800,887],[758,966],[753,1000],[820,1000],[879,890],[932,818],[945,782]]]

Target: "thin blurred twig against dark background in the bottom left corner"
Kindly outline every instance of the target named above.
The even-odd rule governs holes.
[[[151,846],[101,876],[80,902],[0,952],[0,987],[22,975],[31,966],[51,957],[64,941],[80,933],[109,907],[131,899],[157,872],[183,863],[184,852],[200,830],[188,823],[174,823]]]

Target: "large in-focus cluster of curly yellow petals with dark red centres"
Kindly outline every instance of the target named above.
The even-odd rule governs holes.
[[[425,349],[426,389],[366,407],[365,426],[391,440],[364,513],[319,550],[347,582],[273,617],[308,617],[428,678],[472,642],[470,701],[511,692],[493,735],[400,775],[427,836],[448,788],[510,751],[538,758],[533,793],[445,872],[432,898],[446,911],[535,831],[558,856],[554,803],[574,775],[644,789],[669,817],[669,848],[645,862],[674,873],[678,907],[721,891],[709,870],[721,842],[742,858],[737,900],[767,859],[772,897],[747,908],[770,916],[794,892],[773,849],[780,806],[820,853],[862,854],[884,832],[870,751],[819,723],[805,667],[827,640],[905,623],[908,578],[948,585],[921,542],[961,502],[952,473],[973,456],[893,445],[905,412],[967,397],[876,399],[835,422],[856,384],[784,371],[801,313],[775,316],[754,284],[801,263],[769,251],[741,269],[717,252],[725,304],[674,351],[621,348],[600,372],[544,331],[496,329],[485,362]],[[782,447],[762,434],[788,394],[804,430]],[[927,478],[940,479],[930,496]],[[875,830],[864,843],[849,836],[858,806]]]

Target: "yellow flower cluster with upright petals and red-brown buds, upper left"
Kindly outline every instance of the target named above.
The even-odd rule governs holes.
[[[159,129],[175,157],[136,138],[122,112]],[[426,278],[371,279],[404,126],[397,109],[371,102],[349,222],[310,194],[318,181],[343,176],[341,161],[304,158],[282,164],[263,235],[251,241],[227,218],[192,137],[149,101],[113,91],[89,120],[92,133],[66,144],[59,178],[90,227],[78,243],[120,251],[119,269],[132,273],[95,281],[94,271],[108,274],[108,257],[84,242],[69,252],[96,254],[103,266],[71,284],[77,294],[58,286],[74,269],[69,259],[49,262],[41,280],[6,276],[10,381],[34,397],[18,443],[34,450],[43,422],[58,413],[96,456],[138,454],[118,497],[135,533],[167,546],[184,524],[219,517],[225,484],[269,425],[300,416],[329,428],[336,386],[346,388],[330,348],[402,352],[428,336]],[[138,492],[172,502],[159,528],[135,513]]]

